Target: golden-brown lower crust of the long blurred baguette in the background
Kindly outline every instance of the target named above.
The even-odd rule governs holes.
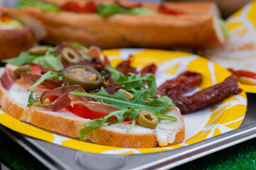
[[[216,18],[211,15],[129,16],[106,18],[92,13],[43,12],[38,8],[20,10],[43,23],[48,35],[43,40],[58,44],[63,40],[101,48],[174,46],[205,49],[225,42]],[[79,23],[79,24],[78,24]]]

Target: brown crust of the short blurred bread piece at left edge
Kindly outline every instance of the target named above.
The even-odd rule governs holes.
[[[31,28],[0,29],[0,60],[16,57],[36,42]]]

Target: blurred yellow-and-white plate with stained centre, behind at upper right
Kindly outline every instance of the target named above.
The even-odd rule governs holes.
[[[225,45],[204,52],[204,56],[225,68],[256,73],[256,1],[245,5],[227,21],[230,39]],[[242,89],[256,93],[256,86],[242,84]]]

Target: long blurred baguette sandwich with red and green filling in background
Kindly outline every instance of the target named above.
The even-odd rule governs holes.
[[[18,11],[41,21],[52,45],[206,49],[227,39],[213,3],[20,0]]]

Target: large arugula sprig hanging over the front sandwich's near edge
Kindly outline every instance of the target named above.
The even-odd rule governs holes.
[[[109,115],[95,120],[90,120],[85,123],[84,128],[80,130],[80,139],[85,140],[88,133],[92,132],[96,128],[100,128],[104,123],[107,123],[114,117],[117,117],[109,125],[114,123],[120,123],[124,121],[124,118],[128,118],[130,120],[136,119],[137,115],[139,115],[140,111],[151,111],[152,113],[156,113],[156,115],[161,117],[161,120],[172,120],[176,121],[175,118],[171,116],[163,116],[160,113],[165,111],[167,108],[174,106],[171,99],[167,96],[159,96],[159,98],[154,98],[151,101],[144,101],[144,96],[147,91],[137,91],[134,93],[133,98],[127,98],[123,91],[117,91],[115,94],[110,95],[107,94],[105,89],[102,87],[100,91],[97,93],[85,93],[81,91],[71,91],[70,94],[75,96],[86,96],[90,98],[94,98],[95,101],[100,101],[103,103],[109,103],[117,108],[121,109],[121,111],[114,111]],[[136,120],[133,120],[132,125],[130,126],[129,130],[132,130]]]

